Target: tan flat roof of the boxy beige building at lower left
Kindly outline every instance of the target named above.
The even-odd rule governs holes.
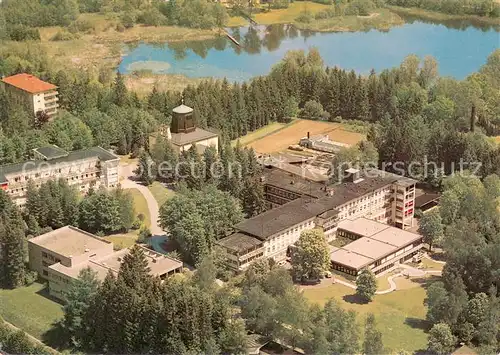
[[[93,250],[111,244],[91,233],[72,226],[62,227],[31,238],[29,242],[68,258],[84,253],[91,253]]]

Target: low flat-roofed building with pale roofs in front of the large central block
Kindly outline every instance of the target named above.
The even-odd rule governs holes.
[[[337,235],[354,241],[331,248],[332,267],[352,276],[363,269],[380,276],[411,259],[423,246],[422,235],[367,218],[341,221]]]

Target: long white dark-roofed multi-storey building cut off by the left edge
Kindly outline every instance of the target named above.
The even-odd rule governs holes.
[[[28,183],[35,186],[52,179],[66,179],[82,193],[89,188],[118,185],[120,158],[101,147],[67,152],[56,146],[33,150],[33,159],[0,166],[0,188],[18,204],[26,202]]]

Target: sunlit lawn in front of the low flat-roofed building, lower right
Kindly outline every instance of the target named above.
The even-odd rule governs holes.
[[[396,280],[398,284],[399,279]],[[321,305],[334,298],[342,307],[358,312],[360,325],[368,313],[373,313],[387,348],[414,352],[427,346],[427,310],[423,304],[426,293],[423,285],[409,280],[404,282],[413,284],[413,287],[402,287],[404,289],[386,295],[376,295],[368,304],[360,304],[355,297],[355,291],[340,284],[305,287],[304,295],[311,302]],[[381,281],[379,289],[380,286]]]

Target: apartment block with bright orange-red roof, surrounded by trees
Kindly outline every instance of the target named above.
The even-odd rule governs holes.
[[[7,95],[18,104],[24,105],[33,116],[38,112],[45,112],[49,117],[53,117],[57,113],[57,86],[25,73],[3,78],[2,83]]]

